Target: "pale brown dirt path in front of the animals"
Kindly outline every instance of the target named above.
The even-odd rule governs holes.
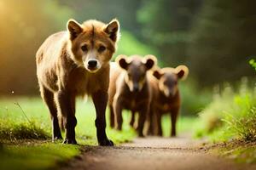
[[[207,153],[201,142],[179,138],[135,139],[133,143],[114,147],[84,146],[81,156],[61,169],[256,169]]]

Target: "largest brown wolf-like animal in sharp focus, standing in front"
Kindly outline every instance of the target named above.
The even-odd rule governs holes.
[[[37,52],[40,92],[49,107],[53,139],[62,139],[57,112],[66,131],[64,144],[75,139],[75,98],[91,95],[96,108],[96,134],[100,145],[113,145],[105,133],[109,60],[119,39],[119,22],[68,20],[67,31],[49,36]]]

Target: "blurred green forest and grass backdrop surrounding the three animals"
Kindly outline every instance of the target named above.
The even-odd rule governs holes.
[[[113,59],[154,54],[160,66],[188,65],[189,77],[179,83],[177,135],[238,139],[224,156],[256,162],[255,7],[255,0],[0,0],[0,169],[54,169],[80,153],[79,147],[50,142],[49,111],[36,77],[38,48],[49,35],[66,30],[70,18],[80,23],[117,18],[122,36]],[[94,112],[90,100],[78,100],[79,144],[97,144]],[[115,144],[136,137],[128,113],[122,132],[107,127]],[[162,127],[170,136],[169,116]],[[243,142],[247,146],[240,147]]]

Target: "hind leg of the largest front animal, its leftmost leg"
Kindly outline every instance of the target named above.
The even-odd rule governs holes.
[[[52,121],[52,139],[62,139],[61,129],[59,126],[57,109],[54,100],[54,94],[49,91],[49,89],[40,86],[41,96],[44,99],[45,104],[48,106],[50,118]]]

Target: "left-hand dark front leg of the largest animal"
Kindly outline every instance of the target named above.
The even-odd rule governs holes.
[[[66,91],[60,91],[56,94],[56,103],[63,117],[66,131],[66,138],[63,144],[77,144],[75,139],[75,127],[77,125],[77,119],[75,117],[75,96]]]

